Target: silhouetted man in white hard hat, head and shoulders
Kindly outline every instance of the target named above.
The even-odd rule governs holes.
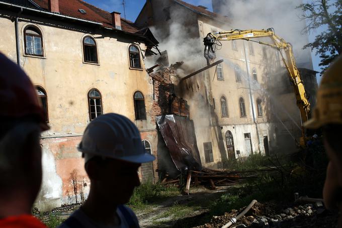
[[[59,227],[139,227],[124,204],[140,185],[141,163],[155,158],[145,152],[134,123],[119,114],[101,115],[85,129],[78,150],[91,180],[90,193]]]

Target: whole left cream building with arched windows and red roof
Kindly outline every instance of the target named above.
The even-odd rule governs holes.
[[[29,75],[51,127],[41,137],[40,210],[87,196],[90,182],[76,146],[98,115],[127,116],[156,155],[153,85],[143,61],[157,44],[149,29],[77,0],[0,1],[0,28],[0,51]],[[153,179],[153,167],[141,168],[143,180]]]

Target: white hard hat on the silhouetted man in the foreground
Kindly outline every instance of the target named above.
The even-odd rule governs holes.
[[[145,152],[134,123],[115,113],[101,115],[88,124],[77,149],[87,155],[86,162],[95,156],[132,163],[146,163],[155,159]]]

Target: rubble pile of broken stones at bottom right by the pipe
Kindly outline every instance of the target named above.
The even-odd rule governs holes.
[[[231,210],[222,216],[213,216],[210,223],[196,228],[222,227],[240,210]],[[252,209],[233,224],[232,228],[283,228],[283,227],[337,227],[337,213],[325,209],[321,204],[294,204],[279,209],[273,202],[256,203]]]

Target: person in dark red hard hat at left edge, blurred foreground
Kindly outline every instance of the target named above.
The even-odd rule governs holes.
[[[31,215],[42,180],[40,133],[47,130],[37,92],[0,53],[0,227],[46,227]]]

